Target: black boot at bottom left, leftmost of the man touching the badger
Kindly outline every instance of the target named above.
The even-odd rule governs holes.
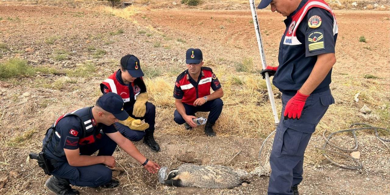
[[[69,184],[67,179],[52,176],[46,181],[45,186],[56,195],[78,195],[78,190],[72,189]]]

